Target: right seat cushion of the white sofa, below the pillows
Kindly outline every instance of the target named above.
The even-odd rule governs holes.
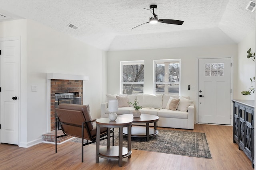
[[[169,110],[169,109],[160,109],[158,111],[159,117],[168,117],[168,118],[179,118],[179,119],[188,119],[188,112],[179,111],[179,110]]]

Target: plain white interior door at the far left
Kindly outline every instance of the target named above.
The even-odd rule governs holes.
[[[18,145],[20,40],[0,39],[1,129],[0,143]]]

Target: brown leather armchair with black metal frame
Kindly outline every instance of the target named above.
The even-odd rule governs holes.
[[[57,152],[57,138],[66,135],[82,138],[82,162],[84,162],[84,146],[96,142],[96,119],[91,118],[89,105],[60,104],[55,109],[56,122],[60,123],[64,135],[57,136],[57,123],[55,123],[55,152]],[[112,133],[112,145],[114,145],[114,131]],[[107,128],[100,128],[100,140],[107,139]],[[84,143],[86,139],[86,143]],[[90,142],[88,142],[90,141]]]

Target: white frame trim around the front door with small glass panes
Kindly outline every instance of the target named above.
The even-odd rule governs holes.
[[[232,92],[231,92],[231,99],[234,98],[234,56],[225,56],[225,57],[196,57],[196,123],[198,124],[198,85],[199,85],[199,78],[198,78],[198,65],[199,65],[199,59],[223,59],[223,58],[230,58],[231,59],[231,63],[232,63],[232,66],[231,66],[231,84],[230,84],[230,87],[232,89]],[[230,100],[230,115],[232,115],[233,113],[233,107],[232,107],[232,101]],[[231,116],[231,126],[233,125],[233,117]]]

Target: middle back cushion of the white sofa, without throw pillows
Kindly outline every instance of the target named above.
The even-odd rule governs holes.
[[[161,94],[144,94],[142,107],[162,109],[162,99]]]

